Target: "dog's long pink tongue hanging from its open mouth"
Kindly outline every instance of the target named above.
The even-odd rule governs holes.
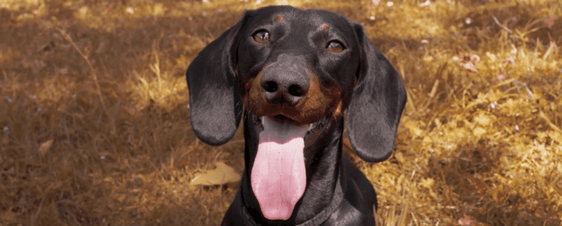
[[[270,220],[287,220],[306,187],[304,135],[307,126],[276,122],[263,117],[263,132],[254,167],[251,189],[258,199],[261,213]]]

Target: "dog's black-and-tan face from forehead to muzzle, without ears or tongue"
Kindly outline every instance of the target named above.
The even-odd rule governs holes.
[[[294,125],[341,114],[360,65],[353,27],[335,13],[283,9],[242,24],[235,64],[244,108]]]

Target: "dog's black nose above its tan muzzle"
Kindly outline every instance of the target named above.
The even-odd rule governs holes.
[[[269,103],[294,106],[306,96],[310,81],[305,66],[301,65],[299,58],[282,55],[266,67],[260,85]]]

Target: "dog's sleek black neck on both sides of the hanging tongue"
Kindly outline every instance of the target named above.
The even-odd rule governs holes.
[[[259,135],[255,130],[252,117],[244,117],[244,137],[246,140],[246,148],[244,152],[244,159],[246,169],[244,169],[244,176],[242,176],[241,195],[245,208],[258,209],[259,203],[252,192],[250,186],[251,166],[254,163],[256,152],[258,148]],[[254,219],[261,219],[264,222],[274,225],[275,223],[286,224],[300,224],[306,220],[315,218],[319,213],[325,209],[329,209],[330,205],[334,205],[334,192],[336,191],[336,183],[344,183],[345,180],[340,181],[339,175],[341,174],[339,162],[343,157],[341,154],[341,137],[344,132],[344,117],[339,115],[332,118],[322,131],[320,136],[311,143],[310,146],[304,150],[304,159],[306,166],[306,190],[303,196],[296,204],[291,218],[287,221],[281,220],[267,220],[263,218],[260,211],[260,216],[252,216]],[[317,185],[317,186],[313,186]],[[321,186],[318,186],[321,185]],[[345,184],[342,184],[345,186]],[[327,189],[329,188],[329,189]],[[336,194],[341,196],[341,194]],[[336,197],[341,198],[341,197]],[[313,210],[317,210],[313,212]],[[303,213],[308,213],[304,215]]]

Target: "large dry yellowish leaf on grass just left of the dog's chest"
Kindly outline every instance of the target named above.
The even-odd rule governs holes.
[[[216,162],[216,168],[197,174],[190,182],[191,185],[222,185],[240,181],[240,174],[237,174],[233,167],[229,167],[223,162]]]

